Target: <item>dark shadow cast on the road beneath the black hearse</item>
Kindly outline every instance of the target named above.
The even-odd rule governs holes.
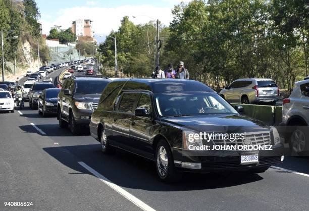
[[[113,183],[133,189],[149,191],[216,189],[263,180],[263,177],[256,174],[186,173],[180,182],[167,184],[159,180],[155,163],[123,150],[117,150],[113,155],[105,155],[101,153],[99,144],[48,147],[43,150],[74,171],[92,175],[86,169],[81,170],[80,165],[76,165],[79,160]],[[71,159],[64,156],[64,153],[66,155],[71,153]]]

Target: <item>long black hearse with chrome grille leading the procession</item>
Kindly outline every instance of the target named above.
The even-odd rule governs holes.
[[[104,153],[121,148],[153,160],[164,181],[183,171],[264,172],[283,161],[283,145],[275,128],[242,116],[241,109],[194,80],[116,79],[102,92],[89,126]],[[200,132],[244,133],[245,139],[201,140]],[[229,148],[245,144],[272,150]]]

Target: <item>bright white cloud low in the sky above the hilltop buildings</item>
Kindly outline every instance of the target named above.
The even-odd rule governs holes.
[[[74,7],[61,9],[57,14],[55,21],[50,22],[47,19],[41,19],[42,30],[48,34],[50,27],[61,25],[63,29],[71,27],[72,21],[77,19],[92,20],[94,33],[109,34],[112,30],[117,31],[120,21],[124,16],[128,16],[135,24],[147,23],[152,19],[159,20],[166,26],[172,21],[172,8],[159,8],[150,5],[140,6],[121,6],[118,8],[100,8],[100,7]],[[132,16],[136,16],[133,18]],[[149,17],[146,17],[149,16]]]

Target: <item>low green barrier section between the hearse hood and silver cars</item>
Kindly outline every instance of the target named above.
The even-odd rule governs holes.
[[[282,106],[237,103],[232,103],[232,105],[241,105],[244,110],[244,115],[261,120],[270,125],[279,125],[281,122]]]

